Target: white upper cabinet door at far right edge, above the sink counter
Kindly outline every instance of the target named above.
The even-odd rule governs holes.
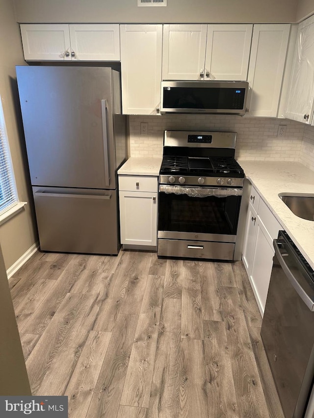
[[[314,16],[299,25],[289,90],[286,118],[311,124],[314,109]]]

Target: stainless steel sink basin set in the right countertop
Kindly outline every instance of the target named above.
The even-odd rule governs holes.
[[[290,211],[299,218],[314,221],[314,195],[306,193],[279,193]]]

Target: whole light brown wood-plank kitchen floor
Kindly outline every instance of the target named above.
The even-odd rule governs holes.
[[[78,418],[283,418],[242,262],[37,252],[9,280],[34,395]]]

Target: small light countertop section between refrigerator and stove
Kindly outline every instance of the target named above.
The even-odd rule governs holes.
[[[118,170],[123,175],[158,175],[162,158],[130,157]]]

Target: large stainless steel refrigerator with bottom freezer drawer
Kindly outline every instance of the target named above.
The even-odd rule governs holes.
[[[16,67],[40,248],[117,254],[117,169],[126,160],[120,74]]]

